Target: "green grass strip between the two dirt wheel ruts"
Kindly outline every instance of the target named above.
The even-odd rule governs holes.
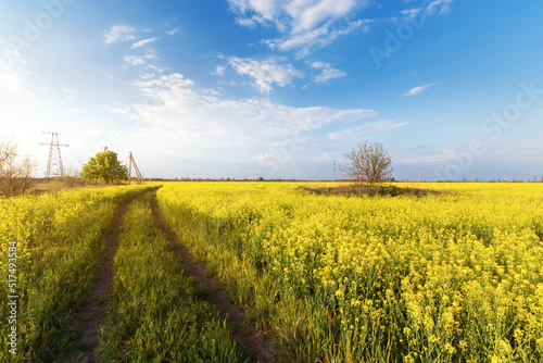
[[[149,192],[121,229],[109,321],[98,359],[106,362],[242,362],[225,323],[204,301],[160,230]]]

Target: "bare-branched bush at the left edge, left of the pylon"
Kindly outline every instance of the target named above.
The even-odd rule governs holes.
[[[17,145],[0,140],[0,192],[5,196],[24,193],[31,184],[36,164],[30,158],[20,159]]]

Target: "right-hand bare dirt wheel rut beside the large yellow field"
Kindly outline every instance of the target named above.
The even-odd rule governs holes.
[[[230,302],[226,287],[222,283],[207,277],[207,267],[203,263],[194,261],[189,250],[172,233],[160,214],[156,199],[152,200],[151,206],[161,229],[181,258],[187,273],[197,280],[199,287],[210,291],[206,295],[206,300],[217,309],[220,317],[226,320],[228,328],[232,331],[233,339],[254,358],[255,362],[281,362],[282,360],[275,346],[273,330],[270,328],[257,329],[254,324],[249,322],[245,312]]]

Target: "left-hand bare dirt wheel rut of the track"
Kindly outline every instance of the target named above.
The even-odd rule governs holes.
[[[90,296],[79,313],[79,321],[83,321],[83,323],[77,327],[76,331],[79,334],[79,339],[74,346],[81,347],[84,351],[79,350],[72,354],[71,362],[93,363],[96,361],[98,333],[106,317],[105,300],[113,287],[113,262],[118,247],[121,225],[127,209],[128,203],[122,208],[105,238],[105,248],[99,260],[97,276]]]

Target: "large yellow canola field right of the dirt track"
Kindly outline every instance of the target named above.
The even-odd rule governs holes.
[[[298,186],[157,191],[178,236],[278,330],[289,360],[543,360],[542,184],[422,184],[446,191],[425,198]]]

